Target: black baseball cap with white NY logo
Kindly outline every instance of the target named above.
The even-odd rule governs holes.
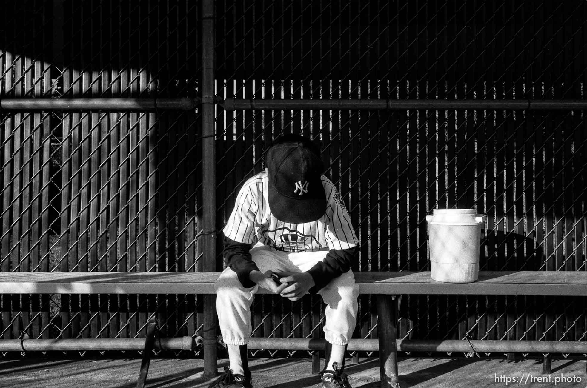
[[[320,150],[306,137],[284,134],[265,153],[269,210],[283,222],[316,221],[326,212]]]

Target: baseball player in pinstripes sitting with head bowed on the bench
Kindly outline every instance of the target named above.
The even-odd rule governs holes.
[[[223,230],[227,268],[215,288],[230,366],[210,387],[252,387],[247,342],[259,287],[291,301],[307,292],[322,296],[327,304],[322,387],[350,387],[345,351],[356,325],[359,289],[350,269],[358,241],[348,211],[322,175],[311,140],[279,137],[265,153],[265,166],[242,186]]]

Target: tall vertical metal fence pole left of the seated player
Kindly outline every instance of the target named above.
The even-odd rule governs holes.
[[[203,180],[203,261],[204,271],[216,271],[216,153],[214,125],[214,0],[200,1],[202,77],[202,180]],[[218,374],[216,343],[216,303],[214,295],[204,296],[204,376]]]

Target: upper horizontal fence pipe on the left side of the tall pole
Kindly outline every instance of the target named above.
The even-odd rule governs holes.
[[[190,110],[200,99],[0,99],[0,110]]]

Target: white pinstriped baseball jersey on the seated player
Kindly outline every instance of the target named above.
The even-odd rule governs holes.
[[[338,190],[321,176],[326,194],[326,212],[316,221],[291,224],[275,218],[269,210],[266,171],[250,178],[238,193],[237,201],[224,235],[234,241],[251,244],[255,237],[269,247],[287,251],[318,251],[348,249],[359,241],[350,223],[350,216]]]

